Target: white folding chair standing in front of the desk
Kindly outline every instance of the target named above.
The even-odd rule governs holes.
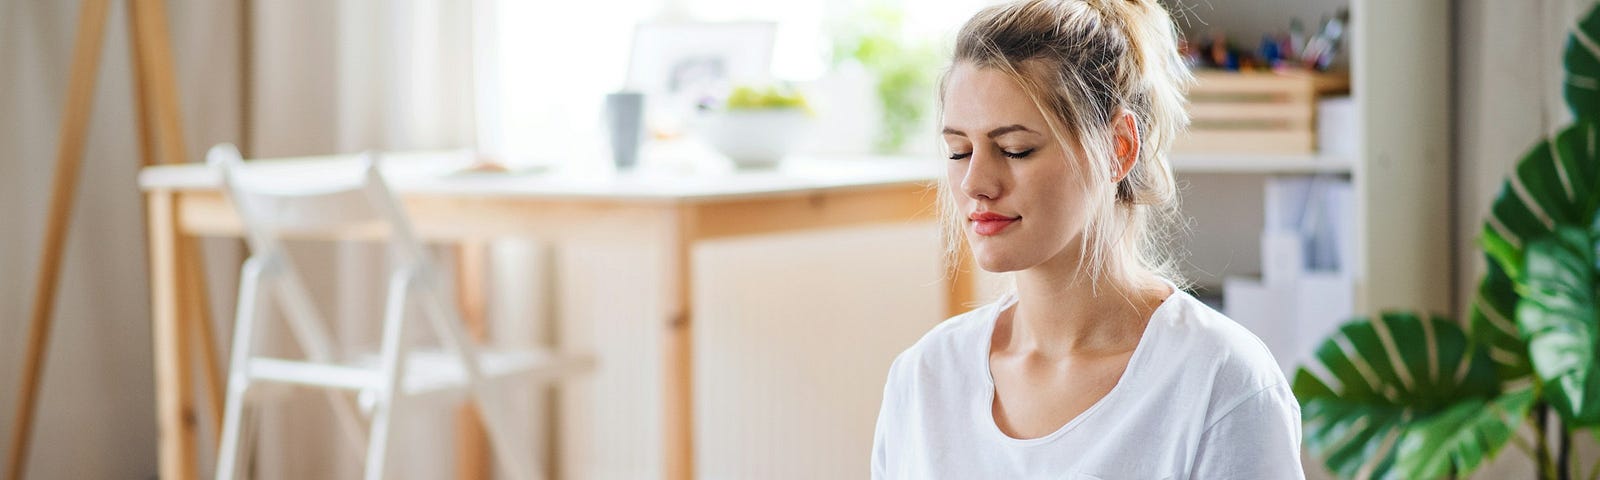
[[[251,251],[238,288],[216,478],[235,478],[245,464],[240,451],[248,450],[242,443],[248,440],[246,429],[254,424],[250,403],[256,397],[254,386],[261,382],[326,389],[341,422],[355,435],[360,435],[358,418],[370,416],[365,466],[368,480],[384,478],[398,400],[435,392],[467,394],[482,413],[501,469],[515,478],[534,478],[536,469],[530,459],[533,451],[514,442],[523,437],[507,430],[509,411],[494,394],[491,381],[512,376],[552,379],[578,366],[579,360],[534,349],[480,350],[464,333],[456,310],[446,307],[440,296],[438,274],[384,182],[374,155],[362,155],[357,165],[347,163],[346,166],[354,168],[347,168],[344,176],[330,171],[331,165],[309,170],[315,173],[246,166],[238,149],[230,144],[213,147],[206,162],[222,174],[224,192],[238,211]],[[390,256],[379,352],[339,355],[280,238],[299,234],[365,234],[374,227],[387,227],[379,230],[387,234]],[[304,360],[272,358],[254,352],[256,320],[269,304],[282,307],[291,334],[306,354]],[[406,320],[411,317],[408,307],[413,306],[421,307],[421,314],[430,320],[442,350],[408,346]],[[363,398],[365,408],[350,402],[350,392]]]

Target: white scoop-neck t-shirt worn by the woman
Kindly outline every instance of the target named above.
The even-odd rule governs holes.
[[[1000,432],[989,344],[1014,302],[946,320],[894,358],[872,478],[1304,478],[1299,403],[1272,354],[1176,288],[1104,398],[1045,437]]]

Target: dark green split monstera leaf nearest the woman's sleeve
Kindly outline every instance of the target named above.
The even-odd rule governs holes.
[[[1346,323],[1294,373],[1306,446],[1342,478],[1405,478],[1400,438],[1498,387],[1493,362],[1461,326],[1406,312]]]

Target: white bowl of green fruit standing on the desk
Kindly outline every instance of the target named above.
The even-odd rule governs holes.
[[[709,112],[701,136],[738,168],[773,168],[803,138],[810,118],[800,109]]]

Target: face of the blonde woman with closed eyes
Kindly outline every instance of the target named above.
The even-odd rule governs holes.
[[[1069,165],[1083,162],[1082,150],[1062,149],[1021,85],[958,64],[944,91],[944,142],[950,194],[979,267],[1013,272],[1078,259],[1090,168]]]

